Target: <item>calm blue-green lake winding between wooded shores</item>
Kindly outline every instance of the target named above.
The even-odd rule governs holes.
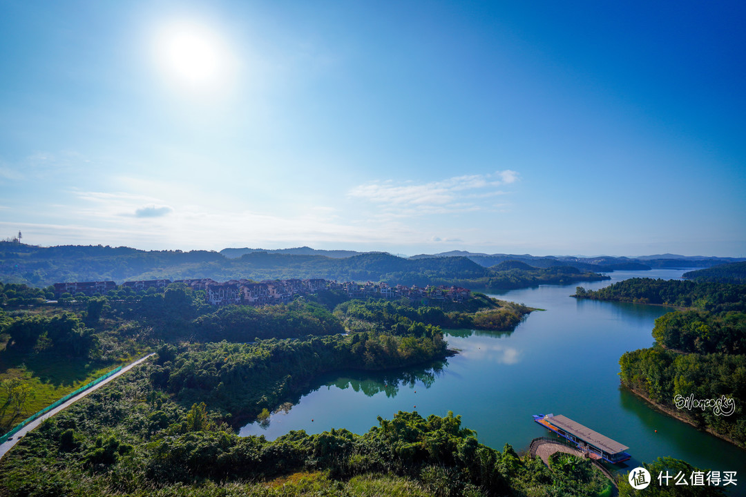
[[[269,440],[301,429],[362,434],[377,425],[378,416],[391,419],[397,411],[415,410],[423,417],[454,411],[477,431],[480,443],[495,449],[510,443],[521,450],[547,434],[532,414],[564,414],[629,446],[630,467],[671,456],[700,468],[737,471],[733,495],[746,495],[746,452],[660,414],[619,387],[619,357],[651,346],[653,321],[670,309],[568,297],[577,285],[595,290],[631,277],[671,279],[684,272],[617,271],[609,274],[611,281],[495,295],[545,311],[532,312],[510,334],[449,331],[448,346],[460,353],[445,363],[319,378],[290,411],[272,414],[269,426],[251,423],[240,434]]]

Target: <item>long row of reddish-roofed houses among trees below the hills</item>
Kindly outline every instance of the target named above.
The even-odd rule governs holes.
[[[166,288],[172,283],[169,279],[151,279],[145,281],[125,282],[123,288],[143,291],[148,288]],[[201,290],[207,294],[207,301],[213,306],[228,304],[242,304],[249,306],[263,306],[291,301],[298,295],[313,294],[319,290],[341,290],[349,297],[381,297],[397,299],[406,297],[410,300],[451,300],[462,302],[471,293],[467,288],[457,286],[432,286],[420,288],[417,285],[388,285],[387,283],[338,283],[329,279],[276,279],[272,281],[253,282],[248,279],[231,279],[228,282],[216,282],[210,278],[179,279],[174,283],[184,285],[194,290]],[[55,283],[54,293],[57,297],[69,292],[86,295],[106,294],[116,290],[116,283],[107,282],[71,282]]]

